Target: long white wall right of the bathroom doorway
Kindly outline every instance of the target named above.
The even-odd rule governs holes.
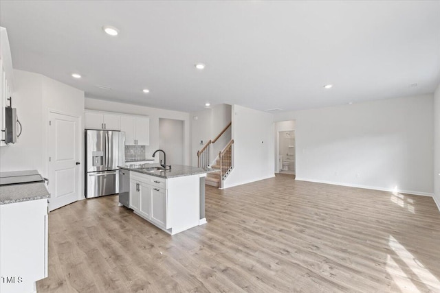
[[[296,120],[300,180],[432,194],[432,95],[278,113]]]

